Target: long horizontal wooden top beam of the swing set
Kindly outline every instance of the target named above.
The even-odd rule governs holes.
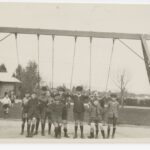
[[[50,29],[17,28],[17,27],[16,28],[15,27],[0,27],[0,33],[77,36],[77,37],[131,39],[131,40],[141,40],[141,36],[143,36],[146,40],[150,40],[150,34],[73,31],[73,30],[50,30]]]

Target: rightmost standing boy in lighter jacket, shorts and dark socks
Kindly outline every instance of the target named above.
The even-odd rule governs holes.
[[[117,95],[111,94],[110,101],[108,102],[108,129],[107,138],[110,137],[110,125],[113,124],[112,138],[115,136],[116,124],[118,119],[119,103],[117,102]]]

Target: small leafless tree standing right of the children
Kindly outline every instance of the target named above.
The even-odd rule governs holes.
[[[118,71],[116,77],[113,79],[115,86],[120,90],[120,102],[121,106],[124,106],[125,93],[127,92],[127,86],[130,82],[129,75],[125,69]]]

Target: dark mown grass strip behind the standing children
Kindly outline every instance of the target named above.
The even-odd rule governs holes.
[[[21,103],[15,104],[9,111],[9,118],[21,119]],[[3,118],[2,105],[0,104],[0,118]],[[73,121],[72,107],[68,110],[68,120]],[[88,121],[88,113],[85,113],[85,121]],[[121,108],[119,112],[119,124],[150,125],[150,109]]]

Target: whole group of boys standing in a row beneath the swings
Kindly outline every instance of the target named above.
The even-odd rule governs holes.
[[[54,126],[55,138],[61,138],[62,128],[64,137],[68,138],[68,111],[72,109],[74,117],[74,138],[78,137],[78,128],[80,128],[80,137],[84,138],[84,114],[88,113],[90,125],[90,135],[88,138],[98,138],[99,130],[103,138],[110,137],[111,124],[113,130],[111,137],[114,138],[119,111],[117,95],[111,94],[105,108],[105,99],[100,98],[98,94],[85,94],[83,87],[77,86],[75,92],[66,92],[63,87],[59,87],[53,92],[49,92],[46,87],[41,92],[33,92],[31,95],[27,92],[22,100],[22,127],[21,134],[24,134],[25,123],[27,123],[27,137],[33,137],[38,134],[41,124],[41,135],[45,135],[45,124],[48,119],[48,134],[51,134],[51,126]],[[105,135],[104,124],[107,114],[107,135]]]

